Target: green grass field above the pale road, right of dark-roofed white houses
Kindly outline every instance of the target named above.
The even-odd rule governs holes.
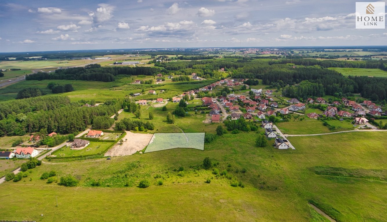
[[[320,134],[330,132],[328,127],[324,126],[320,120],[309,119],[308,117],[305,120],[291,119],[289,122],[278,122],[276,126],[283,134]]]

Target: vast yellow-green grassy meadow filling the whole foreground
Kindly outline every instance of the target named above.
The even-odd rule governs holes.
[[[257,148],[254,133],[224,134],[205,144],[204,151],[171,149],[115,157],[108,161],[63,163],[66,167],[43,163],[31,170],[25,180],[0,185],[0,219],[127,221],[151,220],[156,216],[168,221],[218,221],[219,218],[317,221],[315,219],[319,216],[307,204],[312,200],[339,221],[383,221],[387,217],[383,210],[387,191],[382,180],[387,170],[384,167],[387,151],[383,148],[383,138],[387,133],[356,133],[356,137],[350,133],[291,137],[296,150],[277,150],[271,146]],[[375,139],[370,141],[370,137]],[[338,147],[340,152],[337,152]],[[214,175],[212,169],[200,168],[206,156],[216,163],[214,168],[226,171],[231,180]],[[315,171],[320,166],[341,167],[346,172],[362,169],[363,175],[373,172],[368,169],[382,170],[379,174],[382,177],[369,180],[358,178],[356,174],[350,177],[317,175]],[[179,167],[184,173],[174,171]],[[245,173],[241,169],[245,169]],[[80,187],[50,185],[39,180],[43,172],[50,170],[57,171],[58,176],[74,175],[80,180]],[[90,187],[90,178],[101,180],[101,187]],[[151,186],[145,189],[135,187],[142,178],[148,179]],[[204,183],[206,178],[211,178],[211,183]],[[242,181],[245,187],[230,186],[233,178]],[[163,185],[157,186],[159,180]],[[19,195],[8,198],[14,192]],[[67,198],[70,194],[72,198]],[[106,197],[115,201],[103,201]],[[157,200],[164,200],[164,203],[160,205]],[[90,208],[91,202],[96,209],[92,214],[75,210]],[[114,213],[117,202],[122,203],[120,211],[125,213]],[[373,207],[369,202],[374,203]],[[21,203],[35,207],[21,214]],[[178,207],[177,203],[185,207]],[[283,211],[286,207],[292,210]],[[102,208],[103,213],[99,210]],[[186,208],[194,210],[186,211]]]

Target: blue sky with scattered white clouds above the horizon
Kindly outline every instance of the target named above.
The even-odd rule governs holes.
[[[386,46],[387,29],[355,29],[355,2],[1,0],[0,52]]]

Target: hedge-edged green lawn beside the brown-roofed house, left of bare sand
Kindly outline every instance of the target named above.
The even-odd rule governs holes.
[[[90,142],[90,144],[83,149],[70,149],[69,146],[65,146],[53,152],[52,155],[57,157],[67,157],[97,154],[103,152],[110,145],[111,142]]]

